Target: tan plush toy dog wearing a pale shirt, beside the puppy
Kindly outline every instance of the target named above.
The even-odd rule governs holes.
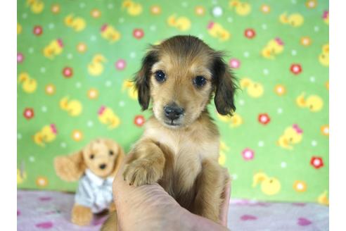
[[[95,139],[81,151],[55,158],[56,174],[62,180],[79,180],[72,223],[89,225],[93,213],[115,210],[112,184],[123,158],[122,147],[110,139]]]

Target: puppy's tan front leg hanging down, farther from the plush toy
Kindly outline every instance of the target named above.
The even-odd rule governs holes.
[[[220,209],[224,202],[224,189],[228,181],[229,175],[225,168],[219,166],[217,161],[204,160],[196,182],[197,194],[193,213],[220,223]]]

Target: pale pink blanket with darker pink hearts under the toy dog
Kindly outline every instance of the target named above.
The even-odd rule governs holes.
[[[17,230],[100,230],[104,216],[88,227],[70,223],[73,194],[48,191],[17,192]],[[229,225],[232,231],[326,231],[328,207],[318,204],[264,203],[232,199]]]

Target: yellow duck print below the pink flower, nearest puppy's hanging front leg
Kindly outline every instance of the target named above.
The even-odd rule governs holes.
[[[281,183],[276,177],[268,177],[262,172],[255,173],[252,180],[252,187],[256,187],[259,183],[261,184],[262,192],[268,196],[280,192]]]

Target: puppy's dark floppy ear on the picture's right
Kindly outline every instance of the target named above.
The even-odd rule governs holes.
[[[222,53],[214,54],[212,65],[212,78],[215,87],[214,103],[217,112],[222,115],[232,115],[236,111],[234,94],[236,92],[236,78],[229,65],[222,60]]]

